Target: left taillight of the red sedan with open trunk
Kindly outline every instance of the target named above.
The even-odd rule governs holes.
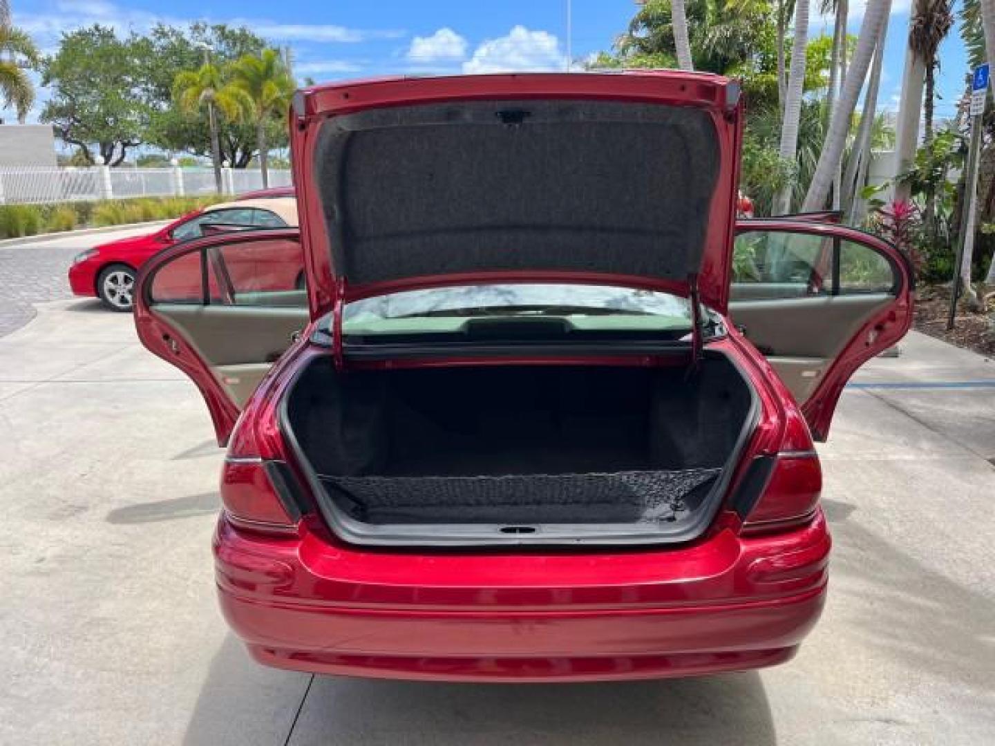
[[[221,472],[221,502],[235,525],[260,533],[297,531],[300,509],[295,497],[296,479],[281,458],[279,432],[260,423],[273,417],[247,410],[229,442]]]

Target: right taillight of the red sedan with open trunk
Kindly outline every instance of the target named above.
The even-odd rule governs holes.
[[[804,419],[789,412],[776,456],[753,460],[733,499],[743,534],[785,531],[809,523],[822,492],[822,467]]]

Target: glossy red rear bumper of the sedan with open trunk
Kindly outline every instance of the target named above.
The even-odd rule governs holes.
[[[666,570],[649,583],[626,577],[625,568],[636,572],[640,557],[652,564],[662,552],[481,555],[468,560],[468,569],[472,573],[476,561],[486,559],[492,572],[472,586],[466,577],[457,583],[447,576],[448,585],[439,584],[449,561],[460,559],[454,555],[425,562],[426,557],[376,553],[367,556],[366,582],[330,578],[327,571],[336,559],[342,574],[359,571],[350,561],[355,557],[349,556],[355,550],[328,548],[318,559],[309,556],[305,536],[275,542],[283,545],[282,556],[271,553],[267,559],[260,550],[268,542],[247,537],[222,519],[216,543],[219,596],[226,619],[254,657],[296,670],[480,681],[657,678],[739,670],[790,658],[818,620],[825,601],[829,537],[821,516],[816,523],[796,532],[794,541],[740,540],[722,532],[727,535],[670,553],[679,566],[688,559],[680,555],[691,552],[701,555],[700,570],[707,571],[709,563],[710,569],[720,570],[703,577],[684,574],[687,567],[678,568],[680,578],[667,577]],[[714,542],[721,546],[708,546]],[[766,542],[771,551],[764,553],[757,542]],[[722,551],[726,549],[734,550],[731,556]],[[400,565],[393,571],[394,584],[383,583],[385,558]],[[601,561],[616,566],[613,581],[597,568]],[[545,587],[531,585],[527,575],[505,572],[529,564],[545,566]],[[417,588],[396,582],[412,565],[420,566],[415,570],[422,578]],[[564,588],[567,568],[586,570],[588,583],[575,577],[570,582],[576,585]],[[512,587],[512,577],[517,587]],[[714,597],[726,581],[743,586],[747,578],[752,578],[752,588],[736,592],[730,587],[725,598]],[[743,590],[749,593],[743,595]],[[545,603],[537,603],[540,598]],[[468,604],[471,600],[478,603]]]

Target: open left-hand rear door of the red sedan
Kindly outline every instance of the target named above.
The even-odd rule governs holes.
[[[309,322],[302,278],[296,229],[191,241],[156,255],[138,276],[138,338],[196,384],[219,445]]]

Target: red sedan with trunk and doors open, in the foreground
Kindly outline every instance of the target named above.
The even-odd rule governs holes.
[[[901,255],[737,224],[720,77],[380,80],[291,117],[300,232],[169,249],[135,305],[228,445],[216,580],[249,651],[473,681],[790,658],[826,596],[813,439],[908,328]],[[227,271],[288,247],[305,290]]]

